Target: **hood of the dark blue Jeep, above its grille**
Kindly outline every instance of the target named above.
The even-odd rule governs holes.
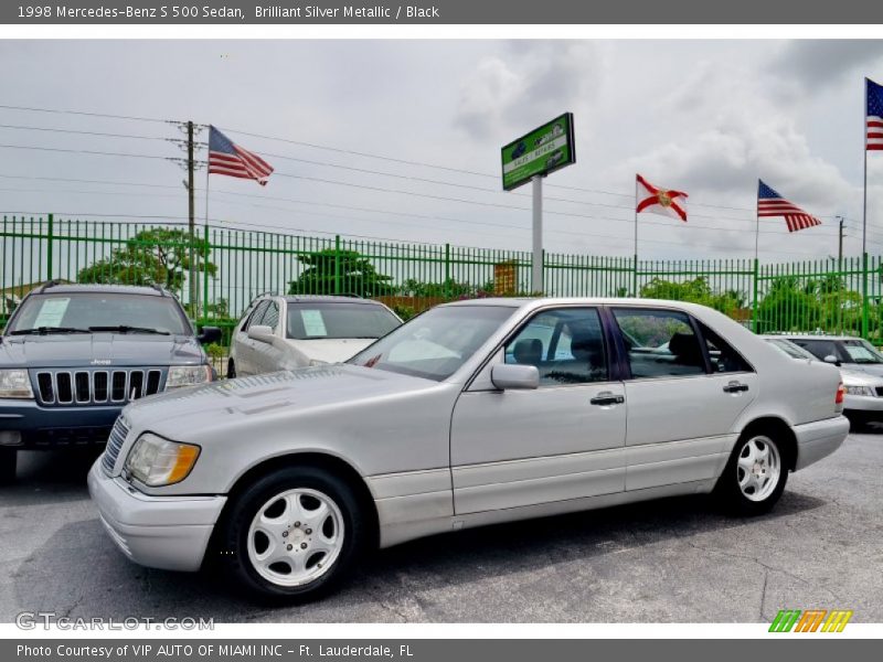
[[[7,335],[0,367],[88,367],[204,363],[195,338],[128,333]]]

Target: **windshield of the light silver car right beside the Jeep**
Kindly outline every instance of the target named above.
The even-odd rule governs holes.
[[[289,303],[286,338],[318,340],[382,338],[401,325],[392,312],[377,303],[339,301]]]

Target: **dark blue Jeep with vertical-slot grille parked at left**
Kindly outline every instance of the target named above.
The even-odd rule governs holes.
[[[30,292],[0,337],[0,482],[20,449],[104,444],[130,401],[212,373],[181,305],[150,287],[56,285]]]

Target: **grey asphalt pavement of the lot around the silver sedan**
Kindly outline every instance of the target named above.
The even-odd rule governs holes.
[[[382,551],[304,606],[245,600],[201,574],[139,567],[99,524],[92,453],[23,452],[0,488],[0,622],[769,622],[779,609],[883,621],[883,428],[790,476],[754,520],[679,498],[451,533]]]

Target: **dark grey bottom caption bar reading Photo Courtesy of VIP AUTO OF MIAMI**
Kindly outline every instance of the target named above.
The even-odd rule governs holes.
[[[763,626],[758,626],[762,628]],[[766,628],[763,627],[765,630]],[[235,639],[108,639],[7,640],[0,659],[26,662],[536,662],[560,660],[715,660],[744,662],[795,659],[828,662],[834,658],[876,659],[879,642],[836,636],[762,639],[693,640],[469,640],[469,639],[363,639],[363,640],[235,640]]]

